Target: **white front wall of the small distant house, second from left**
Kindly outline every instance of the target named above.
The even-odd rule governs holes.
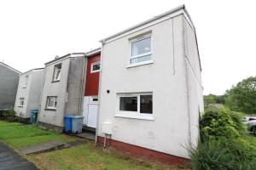
[[[27,85],[26,85],[26,77],[28,77]],[[20,74],[20,81],[19,81],[19,86],[18,86],[16,100],[15,100],[15,111],[17,113],[16,116],[20,116],[24,118],[29,117],[29,115],[27,115],[27,105],[29,104],[28,96],[29,96],[31,85],[32,85],[32,71],[28,71],[26,73]],[[24,98],[23,106],[20,106],[20,98]]]

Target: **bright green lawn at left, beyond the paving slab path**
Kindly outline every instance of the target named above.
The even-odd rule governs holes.
[[[73,140],[54,132],[42,130],[35,125],[0,121],[0,141],[3,141],[3,143],[8,144],[16,150],[35,144],[43,144],[53,139],[63,142]]]

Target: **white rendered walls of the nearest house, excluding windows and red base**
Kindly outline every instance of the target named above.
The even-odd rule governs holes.
[[[127,67],[130,38],[148,31],[152,32],[153,63]],[[201,91],[195,32],[189,29],[183,14],[108,40],[102,47],[97,135],[104,137],[102,122],[111,122],[111,139],[189,158],[185,147],[198,138],[198,116],[203,111]],[[154,120],[115,116],[117,94],[143,92],[153,93]]]

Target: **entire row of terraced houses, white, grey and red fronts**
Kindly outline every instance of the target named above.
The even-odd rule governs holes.
[[[100,42],[24,73],[0,63],[0,109],[13,105],[25,119],[38,109],[38,124],[61,131],[64,116],[84,116],[96,144],[106,139],[132,155],[188,161],[185,146],[197,143],[204,110],[195,26],[186,8]],[[14,86],[4,85],[8,78]]]

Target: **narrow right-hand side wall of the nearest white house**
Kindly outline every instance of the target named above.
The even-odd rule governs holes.
[[[191,144],[196,145],[199,138],[199,116],[204,112],[201,66],[195,31],[183,18],[185,61],[188,75],[188,99]]]

